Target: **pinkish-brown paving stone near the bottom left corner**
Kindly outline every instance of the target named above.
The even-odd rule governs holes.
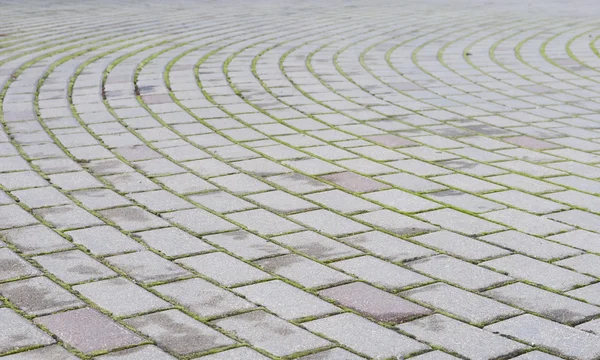
[[[39,317],[35,322],[85,354],[137,345],[145,341],[108,316],[90,308]]]

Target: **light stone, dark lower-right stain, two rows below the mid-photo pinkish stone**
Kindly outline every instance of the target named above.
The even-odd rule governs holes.
[[[387,209],[356,215],[354,218],[398,235],[419,234],[438,229],[436,226]]]

